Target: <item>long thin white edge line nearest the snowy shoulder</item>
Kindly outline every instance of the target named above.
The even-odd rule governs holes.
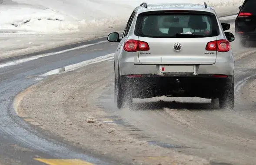
[[[61,53],[69,52],[69,51],[72,51],[72,50],[79,50],[79,49],[82,49],[82,48],[86,48],[88,46],[93,46],[93,45],[100,44],[100,43],[105,43],[105,42],[108,42],[108,41],[100,41],[100,42],[97,42],[97,43],[91,43],[91,44],[87,44],[87,45],[83,45],[83,46],[78,46],[78,47],[67,49],[67,50],[62,50],[62,51],[59,51],[59,52],[47,53],[47,54],[32,56],[32,57],[28,57],[28,58],[24,58],[24,59],[18,59],[18,60],[15,60],[15,61],[11,61],[11,62],[0,64],[0,68],[4,68],[4,67],[7,67],[7,66],[18,65],[20,63],[25,63],[25,62],[28,62],[28,61],[32,61],[32,60],[35,60],[35,59],[42,58],[42,57],[52,56],[52,55],[56,55],[56,54],[61,54]]]

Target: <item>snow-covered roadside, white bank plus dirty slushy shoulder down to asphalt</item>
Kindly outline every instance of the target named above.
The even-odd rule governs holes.
[[[235,13],[243,0],[206,1],[217,12]],[[141,0],[0,0],[0,58],[100,36],[125,25]],[[146,0],[175,3],[176,0]],[[236,10],[235,10],[236,9]]]

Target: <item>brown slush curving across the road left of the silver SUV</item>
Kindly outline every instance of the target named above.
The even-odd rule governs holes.
[[[120,125],[106,124],[106,112],[94,105],[113,83],[113,61],[51,76],[29,88],[17,106],[38,130],[59,141],[123,163],[136,165],[207,165],[209,161],[132,138]],[[113,103],[114,104],[114,103]]]

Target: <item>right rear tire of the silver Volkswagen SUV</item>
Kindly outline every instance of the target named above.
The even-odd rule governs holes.
[[[234,80],[232,86],[227,86],[223,89],[219,97],[219,108],[221,109],[234,109],[235,106],[235,89]]]

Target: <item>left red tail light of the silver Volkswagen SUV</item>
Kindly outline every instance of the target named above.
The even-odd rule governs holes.
[[[150,50],[150,46],[144,41],[126,40],[123,49],[126,52],[148,51]]]

